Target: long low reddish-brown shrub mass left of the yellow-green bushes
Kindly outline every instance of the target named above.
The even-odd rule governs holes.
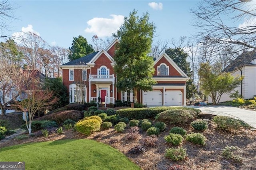
[[[67,119],[71,119],[73,121],[78,121],[79,119],[82,118],[82,115],[79,111],[76,110],[68,110],[68,111],[60,111],[57,113],[52,113],[51,115],[45,115],[43,117],[39,117],[38,121],[43,121],[43,120],[49,120],[49,121],[55,121],[59,125],[64,123]]]

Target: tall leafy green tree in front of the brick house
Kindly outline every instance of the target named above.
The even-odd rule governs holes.
[[[136,14],[135,10],[130,12],[129,18],[124,18],[117,34],[113,34],[120,39],[114,57],[117,87],[121,91],[133,90],[135,103],[138,101],[138,89],[152,90],[152,85],[156,83],[152,79],[154,61],[152,57],[147,56],[156,26],[149,22],[148,13],[143,14],[141,18]]]

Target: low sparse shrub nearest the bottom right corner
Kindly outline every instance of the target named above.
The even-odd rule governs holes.
[[[222,151],[222,157],[225,159],[231,159],[236,163],[242,163],[242,157],[234,154],[234,151],[238,150],[237,146],[226,146]]]

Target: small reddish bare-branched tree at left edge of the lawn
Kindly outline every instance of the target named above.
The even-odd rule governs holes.
[[[36,78],[36,71],[26,71],[23,73],[25,88],[23,92],[26,92],[27,98],[21,101],[14,101],[13,108],[19,109],[24,113],[27,113],[26,126],[28,133],[31,134],[31,124],[34,119],[34,115],[50,107],[50,105],[58,101],[57,98],[52,98],[53,93],[42,90],[39,84],[39,79]],[[22,95],[20,93],[20,95]]]

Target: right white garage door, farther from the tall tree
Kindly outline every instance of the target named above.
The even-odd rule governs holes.
[[[166,106],[181,106],[182,105],[182,92],[166,91],[165,92],[165,105]]]

